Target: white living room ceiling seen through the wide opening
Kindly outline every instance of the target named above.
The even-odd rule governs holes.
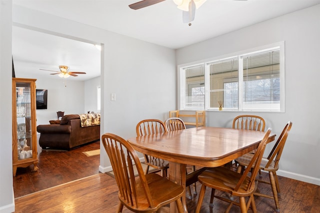
[[[68,80],[100,76],[100,51],[93,45],[43,32],[12,26],[12,57],[16,77],[59,78],[50,75],[67,65],[69,71],[85,72]]]

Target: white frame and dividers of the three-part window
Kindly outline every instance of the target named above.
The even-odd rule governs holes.
[[[279,79],[280,79],[280,106],[279,109],[272,110],[261,110],[261,109],[252,109],[252,110],[243,110],[242,102],[242,84],[243,79],[240,77],[242,75],[242,71],[240,71],[240,67],[242,67],[242,60],[241,57],[245,57],[248,55],[256,54],[256,53],[262,53],[262,52],[269,52],[273,49],[279,49]],[[185,107],[184,106],[184,89],[185,89],[185,72],[183,71],[186,68],[192,67],[192,66],[198,66],[203,65],[204,66],[204,110],[206,111],[218,111],[218,108],[210,108],[209,106],[209,91],[210,91],[210,85],[209,85],[209,67],[208,64],[219,61],[219,60],[225,60],[228,58],[234,58],[238,57],[238,109],[236,110],[223,110],[223,111],[230,111],[230,112],[285,112],[285,56],[284,56],[284,41],[280,41],[277,43],[272,43],[268,45],[263,45],[251,49],[246,49],[243,51],[230,53],[226,55],[217,56],[210,59],[203,59],[196,62],[190,62],[186,64],[180,64],[177,65],[177,94],[178,94],[178,109],[179,110],[198,110],[198,108],[192,108],[192,107]],[[242,68],[241,68],[242,69]]]

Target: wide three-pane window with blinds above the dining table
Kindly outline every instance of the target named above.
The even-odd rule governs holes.
[[[283,112],[283,46],[180,67],[179,109]]]

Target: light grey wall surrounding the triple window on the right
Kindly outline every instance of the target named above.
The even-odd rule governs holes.
[[[185,64],[285,41],[285,113],[253,114],[262,116],[266,127],[277,135],[287,121],[293,122],[278,174],[317,185],[320,185],[319,20],[320,4],[176,50],[176,63]],[[239,114],[244,113],[207,112],[207,126],[231,127],[233,118]]]

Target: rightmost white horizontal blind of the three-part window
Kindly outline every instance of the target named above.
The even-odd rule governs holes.
[[[254,53],[242,57],[243,110],[279,110],[280,51]]]

